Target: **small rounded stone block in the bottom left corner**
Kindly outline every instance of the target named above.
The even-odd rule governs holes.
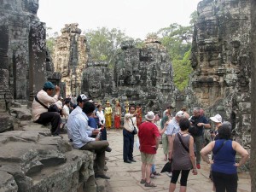
[[[0,191],[1,192],[17,192],[18,186],[13,177],[8,172],[0,171]]]

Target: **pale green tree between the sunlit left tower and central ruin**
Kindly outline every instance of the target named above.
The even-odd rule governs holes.
[[[128,40],[125,32],[113,28],[98,27],[84,32],[90,46],[90,58],[92,61],[108,61],[109,67],[113,67],[120,44]]]

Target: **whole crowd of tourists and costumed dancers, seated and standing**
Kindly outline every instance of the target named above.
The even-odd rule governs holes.
[[[55,90],[55,96],[51,96]],[[60,134],[61,124],[67,122],[67,134],[74,148],[90,150],[96,153],[95,177],[109,179],[104,169],[105,152],[111,151],[107,141],[107,129],[111,127],[112,114],[114,114],[114,126],[120,127],[121,108],[119,102],[115,102],[114,110],[107,102],[107,107],[93,102],[84,94],[76,99],[76,108],[70,108],[70,102],[65,100],[62,106],[60,88],[51,82],[44,84],[32,102],[32,118],[39,124],[51,123],[51,134]],[[59,111],[50,111],[50,105],[55,104]],[[71,111],[71,110],[72,111]],[[194,108],[190,117],[186,108],[175,113],[172,117],[172,106],[166,108],[162,119],[159,114],[149,111],[142,120],[142,107],[129,105],[125,108],[123,129],[123,160],[125,163],[137,162],[133,157],[134,136],[139,138],[139,148],[142,161],[142,179],[145,187],[156,187],[151,181],[155,175],[155,154],[159,143],[163,145],[164,160],[172,163],[172,169],[168,170],[171,178],[169,191],[176,189],[179,175],[180,192],[187,189],[189,172],[197,174],[201,169],[201,156],[211,166],[211,177],[213,191],[233,192],[237,190],[237,167],[242,166],[247,158],[247,150],[239,143],[231,139],[231,125],[229,122],[222,122],[219,114],[211,117],[214,130],[210,131],[209,143],[204,143],[205,129],[210,130],[211,125],[204,115],[202,108]],[[61,112],[62,111],[62,112]],[[67,121],[61,120],[61,116]],[[195,148],[194,148],[195,147]],[[212,159],[209,155],[212,153]],[[241,160],[236,163],[236,153],[241,154]]]

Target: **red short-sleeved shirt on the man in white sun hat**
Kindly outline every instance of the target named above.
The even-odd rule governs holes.
[[[140,151],[145,154],[156,154],[156,137],[160,137],[160,132],[154,123],[145,121],[139,126],[138,137],[140,141]]]

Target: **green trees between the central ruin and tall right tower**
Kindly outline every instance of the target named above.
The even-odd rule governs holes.
[[[189,74],[192,72],[189,57],[192,47],[193,26],[198,18],[197,11],[193,12],[190,18],[190,26],[172,23],[157,32],[161,43],[166,47],[171,58],[174,84],[178,90],[183,90],[189,84]]]

